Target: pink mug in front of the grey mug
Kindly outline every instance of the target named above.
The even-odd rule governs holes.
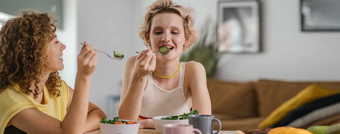
[[[163,134],[192,134],[193,132],[202,134],[199,129],[193,128],[191,124],[166,124],[163,126]]]

